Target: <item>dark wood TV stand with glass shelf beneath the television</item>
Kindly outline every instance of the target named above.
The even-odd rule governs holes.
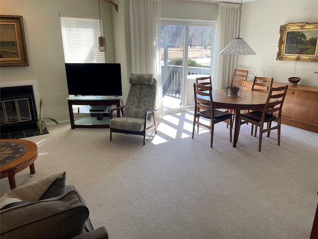
[[[89,111],[91,106],[121,106],[121,97],[117,96],[74,96],[67,98],[71,120],[71,128],[109,128],[110,116],[108,112]],[[79,114],[86,117],[74,119]],[[121,111],[117,111],[121,116]]]

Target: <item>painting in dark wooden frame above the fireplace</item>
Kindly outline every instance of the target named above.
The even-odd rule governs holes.
[[[0,15],[0,66],[28,66],[22,16]]]

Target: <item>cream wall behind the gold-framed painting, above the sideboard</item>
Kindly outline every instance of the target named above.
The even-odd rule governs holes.
[[[240,36],[256,55],[239,56],[239,68],[249,70],[252,78],[254,67],[258,75],[275,82],[289,83],[295,61],[278,61],[279,26],[290,22],[318,22],[318,0],[257,0],[243,3]],[[299,85],[318,87],[317,62],[297,62],[294,76],[301,78]]]

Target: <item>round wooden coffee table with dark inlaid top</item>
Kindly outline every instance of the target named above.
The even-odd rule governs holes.
[[[9,178],[10,189],[16,188],[14,175],[30,167],[35,174],[34,161],[38,156],[35,143],[24,139],[0,139],[0,178]]]

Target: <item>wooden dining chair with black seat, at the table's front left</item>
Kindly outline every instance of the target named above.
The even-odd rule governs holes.
[[[199,132],[199,125],[202,125],[210,129],[210,134],[211,134],[210,147],[212,148],[214,124],[228,119],[230,121],[230,129],[229,129],[230,142],[232,142],[233,114],[214,109],[211,86],[205,86],[205,85],[194,83],[193,89],[194,89],[195,105],[194,105],[192,138],[194,137],[195,125],[197,124],[198,126],[197,132]],[[201,117],[208,119],[209,124],[206,122],[207,120],[200,121]]]

